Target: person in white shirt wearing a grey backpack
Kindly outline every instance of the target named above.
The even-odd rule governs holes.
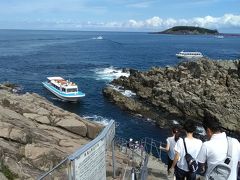
[[[205,115],[203,127],[208,136],[197,156],[200,169],[205,169],[205,179],[237,180],[240,162],[240,143],[221,131],[221,123]]]

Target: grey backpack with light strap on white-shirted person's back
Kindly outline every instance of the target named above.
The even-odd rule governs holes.
[[[206,180],[227,180],[231,174],[232,160],[232,138],[227,137],[228,150],[227,157],[222,162],[219,162],[211,170],[209,170]]]

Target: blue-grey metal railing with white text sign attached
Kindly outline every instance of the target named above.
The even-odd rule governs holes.
[[[88,177],[88,173],[97,169],[101,171],[103,180],[106,179],[105,150],[112,145],[113,178],[115,177],[115,159],[114,159],[114,136],[115,122],[110,121],[103,131],[88,144],[84,145],[70,156],[62,160],[54,168],[43,174],[38,180],[48,180],[60,177],[60,179],[75,180]],[[94,164],[95,163],[95,164]],[[91,165],[91,167],[89,167]],[[101,170],[97,167],[101,166]],[[86,169],[87,168],[87,169]],[[104,172],[105,168],[105,172]],[[89,171],[88,171],[89,170]],[[87,171],[87,172],[86,172]],[[84,174],[84,172],[86,172]],[[99,175],[99,174],[98,174]],[[105,177],[104,177],[105,176]]]

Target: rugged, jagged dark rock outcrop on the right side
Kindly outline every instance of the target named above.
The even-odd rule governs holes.
[[[113,86],[136,93],[126,97]],[[147,72],[131,70],[103,89],[121,108],[155,120],[160,126],[177,119],[218,119],[225,129],[240,129],[240,60],[200,59],[175,67],[153,67]]]

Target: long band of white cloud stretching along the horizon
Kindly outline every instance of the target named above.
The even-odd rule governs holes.
[[[21,23],[18,23],[21,24]],[[173,26],[199,26],[210,29],[236,29],[240,30],[240,15],[225,14],[220,17],[205,16],[195,17],[190,19],[174,19],[161,18],[154,16],[146,20],[130,19],[127,21],[110,21],[110,22],[95,22],[95,21],[75,21],[75,20],[54,20],[39,19],[36,21],[24,21],[22,24],[27,27],[34,25],[34,29],[63,29],[63,30],[118,30],[118,31],[160,31]],[[1,24],[0,24],[1,25]],[[11,28],[9,26],[7,28]],[[22,28],[22,27],[15,27]]]

